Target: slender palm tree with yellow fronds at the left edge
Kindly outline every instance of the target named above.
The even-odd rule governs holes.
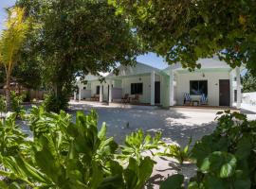
[[[6,71],[7,111],[10,110],[10,77],[26,39],[27,27],[24,9],[18,7],[8,9],[6,28],[0,36],[0,63],[4,65]]]

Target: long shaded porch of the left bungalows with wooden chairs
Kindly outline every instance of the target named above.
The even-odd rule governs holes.
[[[161,89],[164,79],[160,72],[108,76],[104,81],[90,80],[87,84],[78,82],[75,100],[99,101],[143,106],[162,104]]]

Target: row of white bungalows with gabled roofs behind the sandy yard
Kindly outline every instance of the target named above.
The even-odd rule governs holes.
[[[119,76],[110,73],[101,82],[99,77],[87,76],[87,84],[77,81],[79,93],[75,99],[119,102],[126,94],[139,96],[139,103],[164,107],[183,105],[184,94],[190,94],[193,105],[200,104],[205,94],[209,106],[241,106],[241,68],[232,69],[217,59],[198,60],[201,69],[190,72],[176,63],[164,70],[143,63],[135,67],[119,66]]]

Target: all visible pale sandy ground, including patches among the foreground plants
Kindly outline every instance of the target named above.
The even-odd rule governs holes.
[[[123,144],[126,134],[137,129],[155,134],[162,132],[162,139],[167,143],[177,143],[186,146],[190,137],[192,141],[210,134],[216,127],[214,121],[219,110],[185,109],[176,108],[162,110],[154,107],[129,107],[120,105],[106,105],[94,102],[71,102],[70,112],[75,115],[77,111],[85,113],[92,109],[99,114],[99,128],[102,122],[107,124],[107,135],[114,136],[119,144]],[[256,119],[253,112],[245,112],[249,119]],[[29,134],[25,124],[22,129]],[[152,178],[145,188],[159,188],[159,181],[164,180],[174,173],[182,173],[186,179],[195,174],[196,167],[193,163],[184,163],[180,166],[174,159],[155,157],[155,168]]]

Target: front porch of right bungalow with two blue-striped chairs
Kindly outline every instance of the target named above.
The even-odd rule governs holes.
[[[210,67],[190,72],[170,66],[167,72],[170,76],[171,107],[189,104],[192,108],[241,108],[240,67]],[[205,103],[202,103],[202,95],[206,97]],[[186,98],[188,103],[185,103]]]

